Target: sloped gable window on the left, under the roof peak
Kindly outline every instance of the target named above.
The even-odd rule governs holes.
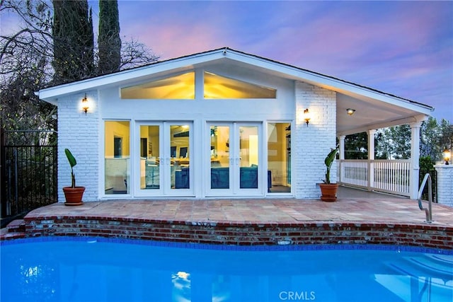
[[[195,72],[121,88],[123,99],[194,99]]]

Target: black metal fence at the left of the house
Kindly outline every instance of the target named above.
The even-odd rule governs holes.
[[[15,132],[17,133],[17,132]],[[16,146],[1,136],[1,227],[57,202],[57,146],[49,139]]]

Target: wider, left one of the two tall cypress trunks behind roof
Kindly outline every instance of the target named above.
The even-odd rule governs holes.
[[[87,0],[53,0],[54,84],[93,76],[93,18]]]

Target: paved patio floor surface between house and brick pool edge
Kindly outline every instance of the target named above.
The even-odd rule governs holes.
[[[31,211],[38,216],[96,216],[122,219],[196,222],[299,223],[302,221],[362,221],[379,223],[425,223],[425,211],[413,199],[365,192],[372,197],[345,197],[337,202],[319,199],[172,199],[85,202],[79,207],[51,204]],[[352,190],[356,191],[356,190]],[[424,207],[428,207],[424,204]],[[431,225],[453,227],[453,208],[432,204]]]

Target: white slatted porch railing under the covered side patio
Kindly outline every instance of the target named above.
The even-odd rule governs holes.
[[[410,196],[411,161],[400,160],[338,160],[338,180],[342,185],[367,190]]]

